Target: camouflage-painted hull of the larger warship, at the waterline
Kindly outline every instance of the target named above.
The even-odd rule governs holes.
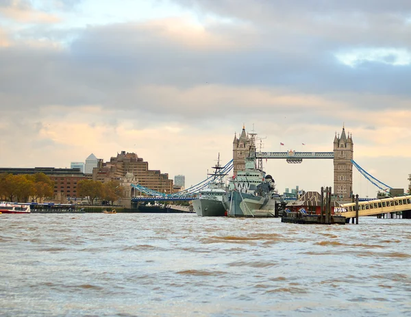
[[[223,205],[229,217],[274,217],[274,199],[240,192],[228,192]]]

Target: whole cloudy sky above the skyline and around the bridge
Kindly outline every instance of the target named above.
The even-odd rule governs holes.
[[[408,188],[410,87],[408,0],[0,0],[2,167],[129,151],[187,187],[242,125],[262,151],[332,151],[344,125],[362,168]],[[279,192],[333,186],[332,160],[264,169]]]

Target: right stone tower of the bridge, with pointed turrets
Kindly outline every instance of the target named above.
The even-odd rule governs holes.
[[[343,201],[350,201],[353,192],[353,146],[352,135],[343,127],[341,136],[336,133],[334,138],[334,194]]]

